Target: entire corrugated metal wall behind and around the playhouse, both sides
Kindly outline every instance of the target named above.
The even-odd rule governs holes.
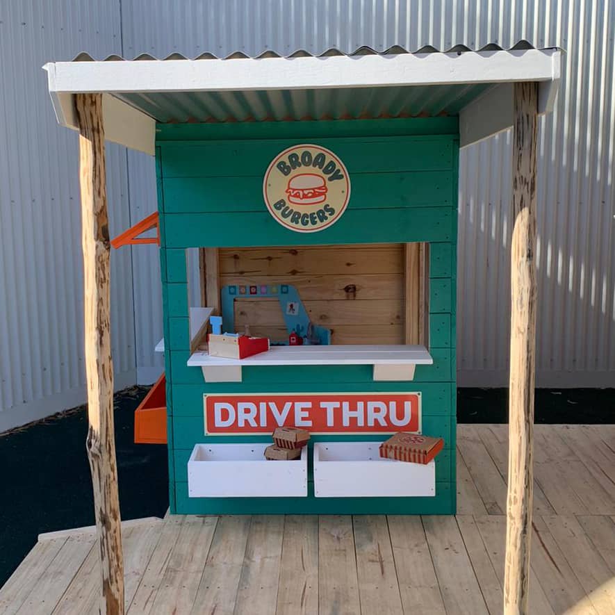
[[[79,51],[224,56],[508,47],[520,38],[564,47],[557,108],[539,133],[537,383],[615,384],[614,31],[614,2],[598,0],[4,0],[0,431],[83,400],[76,136],[56,124],[40,70]],[[470,147],[460,161],[461,385],[507,383],[509,140]],[[115,233],[156,208],[154,163],[113,145],[108,152]],[[162,331],[156,248],[114,253],[112,318],[117,384],[134,382],[136,367],[139,382],[153,382],[162,369],[153,352]]]

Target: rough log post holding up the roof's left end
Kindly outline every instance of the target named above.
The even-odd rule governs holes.
[[[110,342],[109,227],[105,144],[100,94],[76,95],[85,293],[85,375],[88,381],[86,448],[92,472],[102,593],[100,612],[124,614],[124,562],[113,432]]]

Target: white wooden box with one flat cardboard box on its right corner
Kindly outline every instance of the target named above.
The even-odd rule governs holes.
[[[436,495],[436,464],[382,459],[379,442],[314,444],[317,498],[386,498]]]

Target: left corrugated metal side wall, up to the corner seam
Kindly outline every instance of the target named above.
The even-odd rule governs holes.
[[[79,152],[42,65],[120,47],[120,6],[0,3],[0,432],[85,400]],[[110,228],[129,226],[126,152],[108,146]],[[118,387],[135,382],[130,252],[112,260]]]

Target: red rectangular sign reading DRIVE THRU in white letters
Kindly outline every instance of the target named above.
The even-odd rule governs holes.
[[[420,393],[246,393],[204,395],[205,434],[420,432]]]

